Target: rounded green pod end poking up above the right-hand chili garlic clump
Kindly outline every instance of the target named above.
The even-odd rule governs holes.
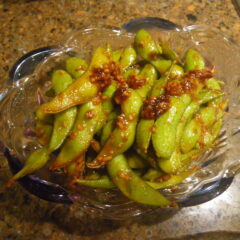
[[[192,48],[188,49],[185,56],[184,70],[202,70],[205,68],[205,61],[201,54]]]

